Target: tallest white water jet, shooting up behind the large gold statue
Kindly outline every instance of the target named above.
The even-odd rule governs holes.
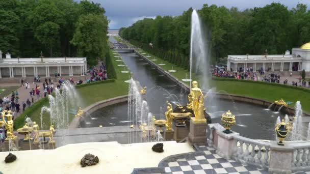
[[[192,79],[192,65],[194,64],[194,72],[202,75],[200,88],[206,90],[209,89],[211,49],[209,43],[205,42],[205,40],[209,40],[209,37],[205,37],[203,31],[197,11],[193,10],[191,17],[190,79]]]

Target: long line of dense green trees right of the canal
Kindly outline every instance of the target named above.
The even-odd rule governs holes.
[[[182,15],[145,18],[119,35],[164,59],[188,68],[190,54],[190,8]],[[310,11],[304,4],[288,9],[280,3],[245,9],[204,4],[197,11],[203,31],[210,38],[212,63],[227,54],[282,54],[310,41]],[[153,48],[149,47],[153,43]]]

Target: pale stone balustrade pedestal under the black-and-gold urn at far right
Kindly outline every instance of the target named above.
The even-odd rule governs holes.
[[[289,143],[279,146],[276,141],[271,141],[269,173],[292,173],[293,152],[294,148]]]

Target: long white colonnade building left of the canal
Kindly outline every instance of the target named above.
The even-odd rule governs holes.
[[[49,77],[84,76],[87,71],[86,57],[41,57],[11,58],[7,53],[2,57],[0,50],[0,78],[2,77]]]

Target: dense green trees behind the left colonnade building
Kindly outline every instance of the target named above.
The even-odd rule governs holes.
[[[90,65],[108,53],[108,19],[100,4],[73,0],[0,1],[0,50],[13,57],[86,56]]]

